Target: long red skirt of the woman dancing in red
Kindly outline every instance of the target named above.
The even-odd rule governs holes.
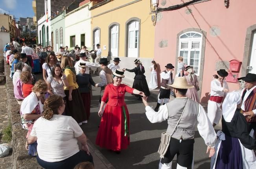
[[[101,118],[96,144],[100,147],[120,151],[130,144],[129,112],[127,106],[105,107]]]

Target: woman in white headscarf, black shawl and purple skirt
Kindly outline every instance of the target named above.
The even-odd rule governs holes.
[[[217,132],[218,142],[211,159],[211,169],[256,169],[256,141],[249,135],[249,126],[237,105],[239,92],[228,93],[222,108],[222,130]]]

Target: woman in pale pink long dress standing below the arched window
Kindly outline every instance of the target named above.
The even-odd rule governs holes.
[[[199,90],[198,81],[197,81],[197,76],[194,73],[193,67],[187,66],[185,68],[185,71],[188,73],[188,75],[185,76],[187,79],[188,85],[194,86],[194,88],[188,89],[186,96],[192,99],[193,101],[199,102],[199,97],[197,94],[197,91]]]

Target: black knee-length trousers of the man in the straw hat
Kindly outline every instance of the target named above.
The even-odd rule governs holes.
[[[174,156],[177,155],[177,163],[182,167],[190,169],[193,160],[194,142],[194,139],[182,140],[180,142],[180,140],[171,138],[168,147],[169,151],[167,150],[164,158],[161,159],[161,163],[170,163]]]

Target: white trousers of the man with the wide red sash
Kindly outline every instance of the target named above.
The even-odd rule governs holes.
[[[218,124],[221,119],[221,103],[217,103],[214,101],[208,102],[207,114],[210,122],[213,124]]]

